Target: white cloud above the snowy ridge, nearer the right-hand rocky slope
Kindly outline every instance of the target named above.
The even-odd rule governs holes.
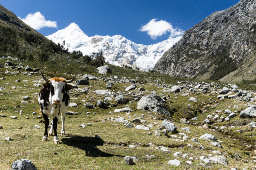
[[[156,21],[156,18],[148,22],[148,24],[142,26],[139,31],[147,32],[153,40],[157,37],[170,33],[170,37],[177,37],[183,35],[184,31],[173,26],[164,20]]]

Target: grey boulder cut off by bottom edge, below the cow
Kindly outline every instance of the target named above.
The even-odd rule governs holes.
[[[37,170],[37,168],[31,160],[21,159],[12,162],[12,170]]]

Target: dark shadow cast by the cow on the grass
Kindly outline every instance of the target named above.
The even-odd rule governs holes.
[[[85,136],[77,136],[77,135],[68,135],[61,139],[63,144],[68,146],[76,147],[78,149],[85,151],[85,156],[89,157],[112,157],[112,156],[120,156],[114,155],[106,152],[100,151],[97,146],[102,146],[104,141],[100,138],[96,137],[85,137]]]

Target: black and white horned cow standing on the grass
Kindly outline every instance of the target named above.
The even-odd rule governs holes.
[[[41,106],[42,115],[44,117],[45,130],[44,130],[43,141],[47,141],[48,135],[52,136],[52,129],[53,129],[54,144],[59,144],[60,142],[57,136],[57,122],[59,119],[59,115],[61,113],[62,128],[61,128],[60,135],[64,136],[65,135],[65,126],[64,126],[65,113],[69,105],[68,90],[72,89],[72,85],[68,85],[68,83],[71,83],[75,79],[76,75],[71,80],[66,80],[64,78],[58,78],[58,77],[47,79],[44,77],[43,73],[42,73],[42,76],[46,82],[43,84],[43,88],[39,92],[38,103]],[[52,127],[48,134],[47,130],[49,126],[49,119],[48,119],[49,116],[53,116],[53,120],[52,120]]]

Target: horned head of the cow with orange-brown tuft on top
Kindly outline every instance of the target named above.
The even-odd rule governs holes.
[[[43,73],[42,73],[42,76],[43,76],[43,79],[46,81],[43,84],[43,86],[46,89],[51,90],[51,96],[52,96],[52,100],[50,101],[51,104],[60,105],[62,103],[63,95],[65,95],[65,93],[67,93],[68,90],[72,89],[72,85],[68,85],[68,83],[71,83],[75,79],[76,75],[71,80],[66,80],[64,78],[59,78],[59,77],[47,79],[44,77]]]

